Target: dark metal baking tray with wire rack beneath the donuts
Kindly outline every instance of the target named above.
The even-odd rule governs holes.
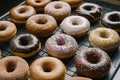
[[[115,11],[115,10],[118,10],[120,11],[118,5],[114,5],[114,4],[109,4],[109,3],[105,3],[101,0],[84,0],[84,2],[91,2],[91,3],[96,3],[96,4],[99,4],[103,7],[103,15],[107,12],[110,12],[110,11]],[[17,4],[17,3],[16,3]],[[25,4],[24,1],[20,2],[19,5],[22,5],[22,4]],[[6,2],[4,1],[4,5],[6,6]],[[1,7],[4,7],[3,6],[0,6],[0,9]],[[13,6],[16,6],[15,4],[9,4],[7,3],[7,5],[13,5]],[[11,9],[13,6],[11,6],[9,9]],[[5,9],[4,9],[5,10]],[[0,20],[6,20],[6,21],[10,21],[9,19],[9,10],[5,10],[4,12],[6,12],[4,15],[1,15],[0,16]],[[0,13],[2,14],[2,13]],[[71,15],[74,15],[75,14],[75,11],[73,10],[72,14]],[[18,32],[17,32],[17,35],[19,34],[22,34],[22,33],[28,33],[25,29],[25,25],[16,25],[17,26],[17,29],[18,29]],[[99,22],[95,23],[95,24],[92,24],[91,25],[91,30],[95,29],[99,27]],[[61,33],[61,30],[59,28],[59,25],[56,29],[56,31],[54,32],[54,34],[57,34],[57,33]],[[40,50],[40,52],[30,58],[26,58],[25,60],[28,62],[28,64],[30,65],[35,59],[39,58],[39,57],[43,57],[43,56],[49,56],[47,53],[46,53],[46,50],[44,48],[44,44],[45,44],[45,41],[47,40],[47,38],[42,38],[40,39],[41,43],[42,43],[42,48]],[[77,53],[79,53],[79,51],[83,50],[83,49],[87,49],[89,47],[89,42],[88,42],[88,35],[85,36],[85,37],[82,37],[82,38],[76,38],[77,42],[78,42],[78,45],[79,45],[79,49],[77,51]],[[11,56],[12,54],[10,53],[9,51],[9,43],[5,43],[5,44],[0,44],[0,49],[2,51],[2,58],[3,57],[6,57],[6,56]],[[67,69],[67,72],[66,72],[66,76],[65,76],[65,80],[68,80],[69,77],[71,76],[78,76],[77,73],[76,73],[76,68],[75,68],[75,65],[74,65],[74,61],[77,57],[77,53],[69,58],[69,59],[65,59],[65,60],[62,60],[66,66],[66,69]],[[113,53],[112,56],[110,56],[111,59],[112,59],[112,67],[111,67],[111,70],[110,72],[100,78],[100,79],[94,79],[94,80],[113,80],[114,76],[116,75],[117,73],[117,70],[119,68],[119,65],[120,65],[120,47],[119,49]],[[28,78],[27,80],[30,80],[30,78]]]

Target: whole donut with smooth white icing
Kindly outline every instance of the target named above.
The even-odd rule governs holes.
[[[90,29],[90,22],[82,16],[69,16],[60,24],[61,30],[74,37],[82,37]]]

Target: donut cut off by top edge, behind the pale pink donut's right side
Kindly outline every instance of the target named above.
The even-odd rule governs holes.
[[[59,1],[67,2],[71,6],[72,9],[77,8],[83,2],[83,0],[59,0]]]

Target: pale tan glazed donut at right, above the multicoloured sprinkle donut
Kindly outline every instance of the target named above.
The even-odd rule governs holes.
[[[118,33],[109,28],[97,28],[91,31],[89,43],[93,47],[100,48],[107,52],[115,51],[120,44]]]

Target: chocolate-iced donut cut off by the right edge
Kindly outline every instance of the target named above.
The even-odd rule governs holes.
[[[101,21],[101,27],[107,27],[120,32],[120,11],[113,11],[106,13]]]

